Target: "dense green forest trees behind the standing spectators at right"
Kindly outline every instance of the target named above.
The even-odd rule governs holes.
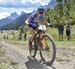
[[[56,0],[54,8],[48,8],[45,12],[49,23],[57,25],[62,22],[64,25],[75,24],[75,0]]]

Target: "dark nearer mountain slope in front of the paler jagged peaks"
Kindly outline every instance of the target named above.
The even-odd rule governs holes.
[[[7,23],[6,25],[3,25],[0,27],[0,30],[15,30],[19,26],[23,25],[25,23],[25,19],[29,16],[30,14],[25,14],[22,12],[20,16],[18,16],[16,19],[13,21]]]

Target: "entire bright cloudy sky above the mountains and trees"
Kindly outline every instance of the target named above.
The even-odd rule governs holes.
[[[48,5],[49,2],[51,0],[0,0],[0,19],[10,16],[13,12],[30,13],[39,6]]]

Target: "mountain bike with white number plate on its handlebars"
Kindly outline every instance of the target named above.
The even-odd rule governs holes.
[[[42,45],[40,44],[39,33],[42,33],[41,39]],[[48,65],[52,65],[56,58],[56,45],[54,43],[52,36],[46,33],[46,26],[39,25],[38,31],[35,34],[32,43],[30,43],[30,39],[29,39],[29,53],[31,57],[35,58],[37,51],[39,51],[42,61]],[[31,44],[32,48],[30,47]]]

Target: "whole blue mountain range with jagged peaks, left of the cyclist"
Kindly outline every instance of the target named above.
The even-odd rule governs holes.
[[[25,19],[30,15],[22,12],[21,15],[12,13],[11,16],[0,20],[0,30],[15,30],[25,23]]]

